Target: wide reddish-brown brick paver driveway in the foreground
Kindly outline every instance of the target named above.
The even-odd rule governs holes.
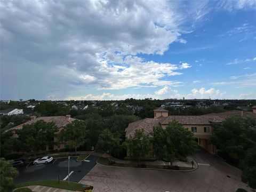
[[[201,151],[194,155],[198,169],[191,172],[125,169],[96,165],[80,181],[98,191],[236,191],[246,187],[241,171],[213,155]],[[230,177],[227,177],[227,175]]]

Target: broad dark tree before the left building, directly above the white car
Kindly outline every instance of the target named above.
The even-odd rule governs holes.
[[[53,144],[54,132],[57,132],[57,126],[53,122],[39,120],[33,124],[23,125],[22,129],[15,130],[18,135],[17,149],[27,152],[33,150],[36,156],[36,151]]]

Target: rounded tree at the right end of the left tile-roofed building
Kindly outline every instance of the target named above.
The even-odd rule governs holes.
[[[86,136],[89,131],[86,130],[86,122],[75,120],[67,124],[58,135],[59,142],[65,142],[70,148],[76,150],[86,141]]]

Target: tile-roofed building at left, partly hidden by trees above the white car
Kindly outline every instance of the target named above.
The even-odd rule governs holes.
[[[22,123],[20,125],[17,125],[15,127],[12,127],[11,129],[7,130],[7,131],[15,131],[15,130],[19,130],[23,128],[23,125],[30,125],[33,124],[39,120],[43,120],[45,122],[54,122],[55,125],[58,127],[58,131],[54,134],[54,143],[56,145],[53,146],[46,146],[46,150],[60,150],[60,149],[64,149],[65,148],[65,144],[57,144],[57,137],[58,137],[58,133],[63,129],[63,127],[65,127],[67,124],[75,121],[75,118],[71,118],[70,115],[65,116],[45,116],[45,117],[36,117],[36,116],[31,116],[30,117],[30,121],[26,122],[26,123]],[[14,133],[13,137],[17,138],[18,135]]]

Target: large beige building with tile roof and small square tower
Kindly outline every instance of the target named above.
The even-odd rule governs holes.
[[[213,123],[221,123],[227,117],[241,115],[242,117],[256,118],[256,106],[253,106],[253,112],[231,110],[218,114],[207,114],[198,116],[184,115],[168,115],[168,111],[162,108],[154,110],[154,118],[145,118],[139,121],[130,123],[126,128],[126,137],[132,137],[135,130],[142,129],[145,133],[153,131],[154,126],[161,125],[163,129],[174,119],[180,122],[183,127],[194,133],[199,146],[206,149],[210,153],[215,153],[216,148],[210,143],[211,135],[213,134]]]

